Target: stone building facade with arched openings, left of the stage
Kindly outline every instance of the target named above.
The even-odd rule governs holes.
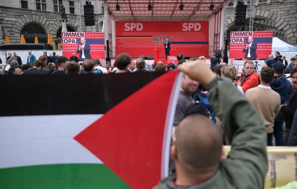
[[[80,1],[82,31],[102,31],[104,10],[102,1],[91,1],[95,10],[95,26],[85,26],[83,4]],[[0,1],[0,44],[8,35],[11,43],[20,42],[20,34],[26,42],[37,36],[39,42],[47,42],[50,33],[55,43],[61,36],[60,7],[64,5],[68,31],[77,31],[77,8],[75,0],[1,0]],[[40,9],[40,10],[39,10]]]

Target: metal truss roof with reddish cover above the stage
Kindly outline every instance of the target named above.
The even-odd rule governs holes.
[[[149,1],[125,0],[118,1],[121,9],[116,10],[117,1],[107,1],[108,11],[116,21],[142,20],[142,21],[206,21],[222,9],[224,0],[183,0],[184,10],[179,10],[181,1],[151,0],[152,10],[148,10]],[[209,10],[211,2],[214,10]]]

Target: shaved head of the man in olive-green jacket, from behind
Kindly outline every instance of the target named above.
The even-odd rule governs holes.
[[[222,141],[221,131],[206,116],[187,116],[178,125],[173,159],[187,174],[201,174],[209,169],[217,169]]]

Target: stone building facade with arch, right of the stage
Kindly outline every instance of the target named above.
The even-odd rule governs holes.
[[[234,3],[234,4],[233,4]],[[228,7],[228,32],[249,30],[249,1],[245,26],[235,26],[235,7],[238,1],[233,1]],[[274,31],[274,37],[297,46],[297,1],[296,0],[256,0],[254,12],[254,31]]]

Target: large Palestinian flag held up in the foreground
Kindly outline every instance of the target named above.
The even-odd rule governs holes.
[[[181,77],[1,76],[0,188],[151,189],[167,176]]]

